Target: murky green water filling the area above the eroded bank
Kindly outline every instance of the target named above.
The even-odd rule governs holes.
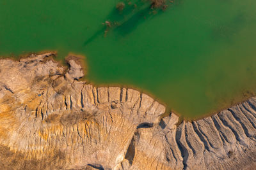
[[[139,1],[120,15],[116,3],[1,0],[0,55],[85,55],[86,79],[143,89],[187,118],[256,90],[256,1],[177,0],[155,15]],[[106,20],[121,25],[104,36]]]

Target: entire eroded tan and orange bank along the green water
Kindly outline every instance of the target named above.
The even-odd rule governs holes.
[[[256,97],[177,125],[147,94],[93,87],[76,57],[0,60],[1,169],[253,169]]]

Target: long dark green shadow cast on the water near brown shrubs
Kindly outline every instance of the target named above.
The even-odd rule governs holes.
[[[122,11],[118,11],[117,6],[113,8],[100,26],[99,31],[84,41],[83,46],[88,45],[100,35],[107,36],[109,31],[119,36],[127,36],[127,34],[134,31],[139,25],[163,13],[163,10],[160,8],[152,8],[150,1],[129,3],[124,4],[125,8]]]

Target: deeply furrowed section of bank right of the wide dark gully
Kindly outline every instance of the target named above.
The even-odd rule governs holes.
[[[171,114],[139,129],[127,169],[255,169],[255,110],[248,104],[253,100],[179,126]]]

